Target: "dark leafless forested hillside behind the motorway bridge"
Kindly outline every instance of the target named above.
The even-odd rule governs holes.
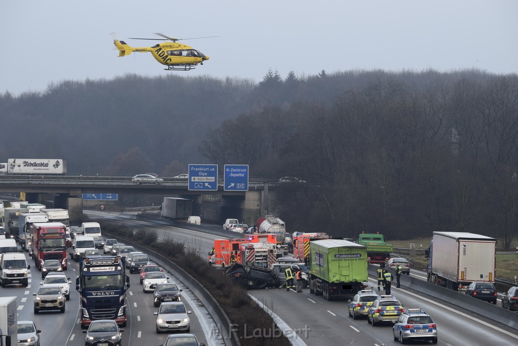
[[[0,95],[0,153],[64,158],[83,174],[249,164],[251,176],[307,182],[279,194],[291,230],[471,231],[509,246],[517,82],[473,70],[65,80]]]

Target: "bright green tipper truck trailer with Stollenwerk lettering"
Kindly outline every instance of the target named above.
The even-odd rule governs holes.
[[[367,248],[341,239],[309,243],[309,292],[349,299],[367,287]]]

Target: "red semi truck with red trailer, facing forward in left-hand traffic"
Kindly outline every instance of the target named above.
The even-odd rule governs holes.
[[[47,259],[57,259],[63,270],[67,270],[66,226],[60,222],[34,223],[31,225],[33,258],[41,270]]]

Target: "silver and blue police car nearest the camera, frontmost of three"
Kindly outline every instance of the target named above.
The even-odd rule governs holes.
[[[437,343],[437,326],[431,317],[421,309],[408,309],[399,316],[392,327],[394,341],[406,343],[409,340],[431,340]]]

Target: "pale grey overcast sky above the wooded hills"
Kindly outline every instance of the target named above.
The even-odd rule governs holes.
[[[118,57],[130,46],[183,41],[210,60],[189,72],[163,70],[151,53]],[[63,79],[126,73],[208,75],[260,81],[361,68],[518,72],[517,0],[2,0],[0,93],[45,91]]]

